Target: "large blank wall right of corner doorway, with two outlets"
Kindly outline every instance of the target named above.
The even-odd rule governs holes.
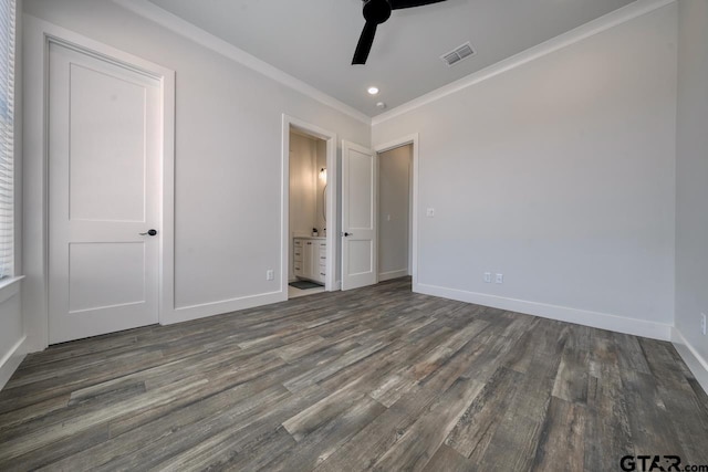
[[[676,15],[669,4],[374,125],[374,145],[420,136],[417,291],[668,338]]]

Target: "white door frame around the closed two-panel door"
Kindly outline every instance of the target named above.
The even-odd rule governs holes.
[[[49,346],[49,45],[76,50],[162,84],[158,321],[175,312],[175,71],[73,31],[23,15],[22,312],[28,350]]]

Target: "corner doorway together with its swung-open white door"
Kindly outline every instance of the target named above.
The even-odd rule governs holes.
[[[415,290],[417,162],[417,134],[374,150],[343,141],[342,290],[406,275]]]

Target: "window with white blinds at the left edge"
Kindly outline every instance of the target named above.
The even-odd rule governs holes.
[[[0,0],[0,279],[14,275],[14,0]]]

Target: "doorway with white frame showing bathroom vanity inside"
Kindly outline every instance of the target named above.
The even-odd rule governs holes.
[[[283,292],[294,298],[335,290],[336,136],[283,115],[282,138]]]

